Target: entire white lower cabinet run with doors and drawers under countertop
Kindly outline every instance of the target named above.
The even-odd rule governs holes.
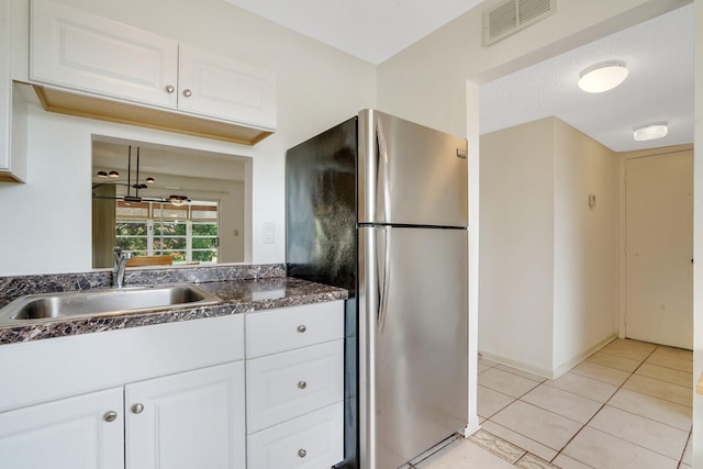
[[[2,345],[0,468],[331,467],[343,305]]]

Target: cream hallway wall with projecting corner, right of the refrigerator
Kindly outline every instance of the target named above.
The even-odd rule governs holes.
[[[613,152],[555,118],[481,136],[487,358],[553,378],[615,336],[617,175]]]

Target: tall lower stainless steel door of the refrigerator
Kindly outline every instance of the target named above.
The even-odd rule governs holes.
[[[397,468],[467,425],[467,236],[359,228],[362,468]]]

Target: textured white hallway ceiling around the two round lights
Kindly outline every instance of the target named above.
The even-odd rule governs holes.
[[[578,88],[591,65],[624,60],[617,88]],[[555,115],[615,152],[693,142],[693,5],[621,31],[481,87],[481,134]],[[635,142],[633,127],[666,121],[669,135]]]

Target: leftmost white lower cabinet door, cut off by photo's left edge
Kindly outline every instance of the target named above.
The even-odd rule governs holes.
[[[0,413],[2,469],[124,469],[122,388]]]

